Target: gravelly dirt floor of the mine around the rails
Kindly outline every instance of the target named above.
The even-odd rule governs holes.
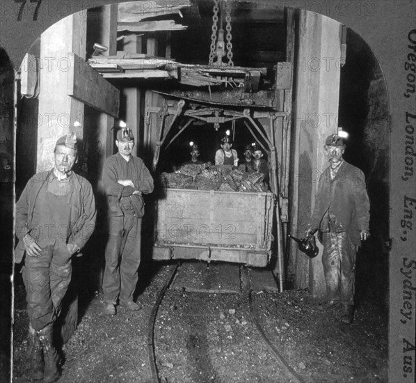
[[[102,313],[99,292],[80,289],[80,322],[63,347],[59,382],[151,382],[147,326],[171,265],[143,265],[143,310]],[[253,292],[266,336],[303,382],[387,382],[387,314],[366,295],[352,325],[307,290]],[[248,295],[170,288],[154,341],[162,382],[290,382],[253,325]],[[15,286],[13,382],[29,382],[24,287]]]

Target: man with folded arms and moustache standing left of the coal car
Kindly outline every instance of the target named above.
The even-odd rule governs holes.
[[[102,289],[104,313],[115,315],[115,306],[141,309],[133,301],[141,262],[141,226],[145,212],[142,194],[153,192],[153,178],[143,160],[132,155],[133,132],[118,130],[118,153],[104,162],[102,182],[108,203],[109,240]]]

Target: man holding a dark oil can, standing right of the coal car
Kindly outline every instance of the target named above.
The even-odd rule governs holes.
[[[341,304],[341,321],[349,324],[353,322],[355,258],[361,241],[369,237],[369,198],[364,173],[343,159],[343,139],[331,134],[324,148],[330,166],[319,178],[314,212],[305,234],[319,230],[326,308]]]

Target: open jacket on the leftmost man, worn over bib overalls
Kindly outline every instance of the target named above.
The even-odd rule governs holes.
[[[32,217],[35,209],[42,209],[36,204],[38,194],[45,182],[53,177],[52,171],[43,171],[33,175],[16,203],[16,236],[19,239],[15,250],[15,263],[20,263],[24,255],[23,237],[33,230]],[[72,171],[74,192],[71,197],[70,208],[70,236],[67,243],[77,244],[82,249],[95,228],[95,198],[90,182]],[[71,181],[71,182],[72,182]]]

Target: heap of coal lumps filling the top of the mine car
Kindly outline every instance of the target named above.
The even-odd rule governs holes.
[[[185,164],[173,173],[161,173],[163,187],[221,190],[223,192],[267,192],[264,174],[248,172],[245,165]]]

